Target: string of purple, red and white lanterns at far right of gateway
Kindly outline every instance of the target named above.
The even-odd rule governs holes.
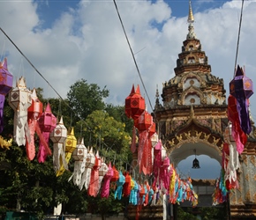
[[[253,94],[252,80],[245,76],[237,65],[235,77],[230,81],[228,98],[228,126],[224,131],[222,150],[222,172],[215,184],[213,204],[227,201],[230,190],[238,188],[237,170],[240,168],[239,155],[244,151],[247,136],[252,131],[249,98]]]

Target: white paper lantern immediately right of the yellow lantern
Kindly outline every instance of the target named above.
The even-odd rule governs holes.
[[[84,144],[84,139],[79,139],[78,145],[75,150],[72,152],[72,158],[75,160],[74,171],[69,180],[73,180],[73,184],[76,186],[80,185],[82,180],[82,174],[86,168],[86,159],[87,159],[87,148]]]

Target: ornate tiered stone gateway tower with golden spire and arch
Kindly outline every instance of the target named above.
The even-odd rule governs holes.
[[[222,163],[223,134],[228,125],[226,91],[222,78],[211,74],[201,50],[189,7],[189,33],[178,55],[175,77],[162,84],[162,102],[156,92],[154,116],[169,158],[178,164],[193,154],[204,154]],[[256,219],[256,129],[239,156],[239,188],[230,192],[231,219]],[[175,152],[175,153],[174,153]]]

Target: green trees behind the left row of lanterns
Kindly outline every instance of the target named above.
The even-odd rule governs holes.
[[[64,100],[43,99],[42,90],[37,90],[43,106],[49,102],[52,113],[58,119],[63,115],[66,128],[74,126],[77,139],[83,137],[87,145],[100,151],[106,162],[116,161],[119,169],[123,170],[131,156],[130,128],[125,127],[127,119],[123,106],[104,103],[108,95],[105,87],[101,89],[97,84],[87,84],[84,79],[72,84]],[[5,101],[5,124],[1,134],[5,138],[13,136],[13,115],[13,110]],[[35,137],[35,143],[38,152],[38,137]],[[53,151],[51,143],[50,147]],[[52,156],[39,164],[36,157],[33,161],[26,158],[25,146],[17,146],[13,142],[10,150],[0,148],[0,211],[24,209],[43,218],[45,214],[52,214],[59,203],[63,204],[63,212],[70,214],[85,213],[90,210],[92,203],[97,204],[95,210],[102,215],[124,209],[124,202],[113,198],[113,189],[109,200],[102,200],[100,196],[89,197],[87,190],[79,190],[72,181],[69,182],[73,164],[71,159],[70,170],[56,177]]]

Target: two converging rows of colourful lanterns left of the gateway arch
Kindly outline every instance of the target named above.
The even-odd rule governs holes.
[[[68,132],[64,127],[63,117],[58,121],[52,114],[49,103],[44,112],[42,103],[33,92],[26,88],[26,80],[20,77],[16,87],[11,89],[12,75],[7,69],[7,60],[0,62],[1,78],[0,89],[9,94],[9,105],[14,110],[14,141],[19,145],[26,146],[26,156],[29,160],[35,158],[34,133],[39,136],[39,152],[37,159],[44,163],[46,158],[53,154],[53,166],[56,176],[60,176],[68,169],[70,158],[74,159],[74,170],[70,180],[81,190],[85,187],[87,194],[102,198],[109,197],[111,182],[114,183],[115,198],[120,200],[123,196],[128,197],[132,204],[148,203],[156,204],[157,194],[168,194],[169,202],[181,202],[190,200],[197,203],[197,195],[192,191],[191,182],[180,180],[174,167],[169,164],[161,141],[155,133],[155,124],[151,114],[147,113],[145,99],[132,86],[130,96],[125,99],[125,114],[134,120],[134,131],[131,149],[138,150],[139,172],[145,175],[154,174],[154,183],[149,185],[148,180],[139,182],[134,180],[128,171],[117,171],[115,165],[106,165],[104,158],[97,151],[87,148],[83,139],[77,142],[73,129]],[[8,79],[6,79],[8,77]],[[3,113],[0,114],[1,125],[4,125]],[[139,131],[139,148],[136,147],[136,129]],[[49,140],[53,143],[53,153],[49,148]],[[3,142],[1,142],[2,144]],[[8,148],[11,143],[4,142]],[[2,146],[2,145],[1,145]],[[191,192],[193,192],[191,194]],[[182,195],[182,196],[181,196]],[[137,197],[136,197],[137,196]],[[136,197],[136,198],[135,198]]]

